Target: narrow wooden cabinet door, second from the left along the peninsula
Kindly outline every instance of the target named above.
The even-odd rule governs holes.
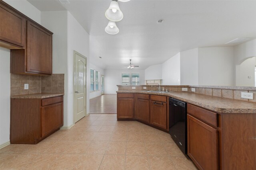
[[[149,123],[149,100],[138,99],[138,120]]]

